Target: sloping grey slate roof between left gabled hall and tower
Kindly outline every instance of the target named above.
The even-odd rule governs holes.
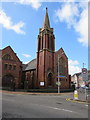
[[[23,71],[36,69],[36,59],[33,59],[28,64],[23,64]]]

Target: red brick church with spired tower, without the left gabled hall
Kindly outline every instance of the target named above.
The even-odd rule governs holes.
[[[32,60],[24,68],[26,80],[30,88],[56,88],[58,81],[58,56],[59,78],[61,88],[69,88],[68,58],[62,48],[55,51],[55,36],[50,27],[48,11],[42,28],[39,29],[37,59]]]

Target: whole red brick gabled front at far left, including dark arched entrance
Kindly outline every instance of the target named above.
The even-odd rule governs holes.
[[[2,50],[2,86],[11,87],[15,83],[20,87],[22,77],[22,62],[10,46]]]

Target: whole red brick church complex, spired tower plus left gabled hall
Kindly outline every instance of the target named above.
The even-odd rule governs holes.
[[[3,84],[4,81],[6,81],[5,79],[7,79],[5,75],[11,75],[17,87],[20,87],[22,84],[24,86],[25,83],[27,83],[28,88],[56,88],[59,70],[61,88],[69,88],[68,58],[62,48],[55,51],[55,36],[53,28],[50,27],[47,8],[43,26],[39,29],[36,59],[33,59],[28,64],[22,64],[11,47],[6,47],[5,49],[2,50],[2,56],[10,55],[8,61],[10,61],[10,65],[12,65],[13,68],[10,68],[9,65],[10,69],[3,70]],[[11,52],[8,53],[9,50],[7,49],[11,49]],[[5,64],[8,64],[8,61],[5,59],[2,59],[2,61],[4,61],[2,62],[2,67],[6,68],[7,65]],[[15,63],[15,61],[17,62]],[[14,69],[16,69],[15,74],[13,73]]]

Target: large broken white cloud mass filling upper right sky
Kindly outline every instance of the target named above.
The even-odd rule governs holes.
[[[55,11],[60,22],[65,22],[68,28],[74,28],[78,33],[77,40],[88,46],[88,3],[65,2]]]

